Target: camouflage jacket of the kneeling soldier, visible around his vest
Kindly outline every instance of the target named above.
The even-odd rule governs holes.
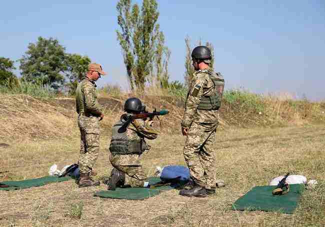
[[[126,136],[129,140],[141,137],[149,140],[157,138],[160,133],[152,127],[155,121],[148,122],[142,119],[135,119],[126,129]],[[150,150],[150,146],[147,146],[146,150]],[[141,166],[141,155],[127,154],[127,155],[113,155],[110,154],[109,161],[113,166]]]

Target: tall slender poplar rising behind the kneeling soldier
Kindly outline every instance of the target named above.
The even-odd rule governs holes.
[[[119,0],[116,10],[120,26],[120,31],[116,30],[117,40],[122,49],[130,87],[132,90],[143,90],[150,75],[156,74],[157,80],[165,78],[166,75],[161,73],[166,72],[166,59],[170,55],[170,51],[163,46],[164,36],[157,23],[157,2],[143,0],[140,10],[136,3],[131,4],[131,0]]]

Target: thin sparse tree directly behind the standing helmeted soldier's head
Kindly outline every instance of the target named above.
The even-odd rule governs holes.
[[[201,40],[199,40],[198,42],[198,45],[202,45],[202,42]],[[186,56],[185,56],[185,73],[184,73],[184,83],[185,83],[185,86],[189,87],[190,85],[190,81],[192,79],[192,76],[193,76],[193,73],[194,73],[194,67],[192,65],[192,57],[191,57],[191,53],[192,53],[192,47],[190,45],[190,40],[189,40],[189,37],[186,36],[185,38],[185,45],[186,45]],[[213,68],[213,63],[214,63],[214,48],[213,48],[213,45],[212,43],[210,42],[206,42],[205,43],[205,46],[207,46],[210,51],[211,51],[211,55],[212,55],[212,58],[211,58],[211,63],[209,64],[211,68]]]

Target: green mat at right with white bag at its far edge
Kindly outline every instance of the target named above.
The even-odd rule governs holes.
[[[256,186],[252,188],[232,205],[232,210],[292,214],[304,191],[304,185],[290,185],[290,191],[281,196],[272,195],[275,188],[275,186]]]

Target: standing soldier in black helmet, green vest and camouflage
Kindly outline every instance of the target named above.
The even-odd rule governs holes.
[[[189,190],[180,190],[179,195],[205,197],[214,194],[216,187],[213,143],[224,80],[209,67],[209,48],[197,46],[191,56],[195,72],[187,93],[181,132],[187,136],[183,154],[193,185]]]

